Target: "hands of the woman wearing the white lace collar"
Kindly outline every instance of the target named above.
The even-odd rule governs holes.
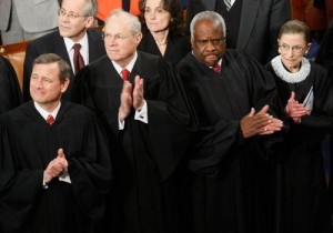
[[[291,92],[290,99],[285,107],[285,113],[292,118],[295,123],[301,123],[301,118],[310,113],[310,110],[295,100],[295,92]]]

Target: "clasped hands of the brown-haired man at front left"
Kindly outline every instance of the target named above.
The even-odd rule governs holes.
[[[43,181],[46,183],[49,183],[52,181],[53,178],[61,176],[61,174],[63,172],[67,172],[67,170],[68,161],[65,159],[63,150],[59,149],[57,158],[52,160],[44,170]]]

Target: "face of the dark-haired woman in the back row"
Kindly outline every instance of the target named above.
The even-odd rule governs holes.
[[[170,12],[163,9],[163,0],[147,0],[144,19],[148,29],[153,32],[169,30],[171,19]]]

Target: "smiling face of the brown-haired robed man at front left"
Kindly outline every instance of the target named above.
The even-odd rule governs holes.
[[[32,100],[42,108],[58,104],[61,94],[67,90],[69,80],[61,82],[57,62],[34,64],[30,79],[30,94]]]

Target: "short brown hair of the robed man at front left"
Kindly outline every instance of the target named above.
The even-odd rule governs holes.
[[[59,67],[59,79],[61,82],[64,82],[65,79],[69,79],[71,74],[71,67],[59,55],[54,53],[44,53],[34,59],[32,67],[34,64],[50,64],[58,63]]]

